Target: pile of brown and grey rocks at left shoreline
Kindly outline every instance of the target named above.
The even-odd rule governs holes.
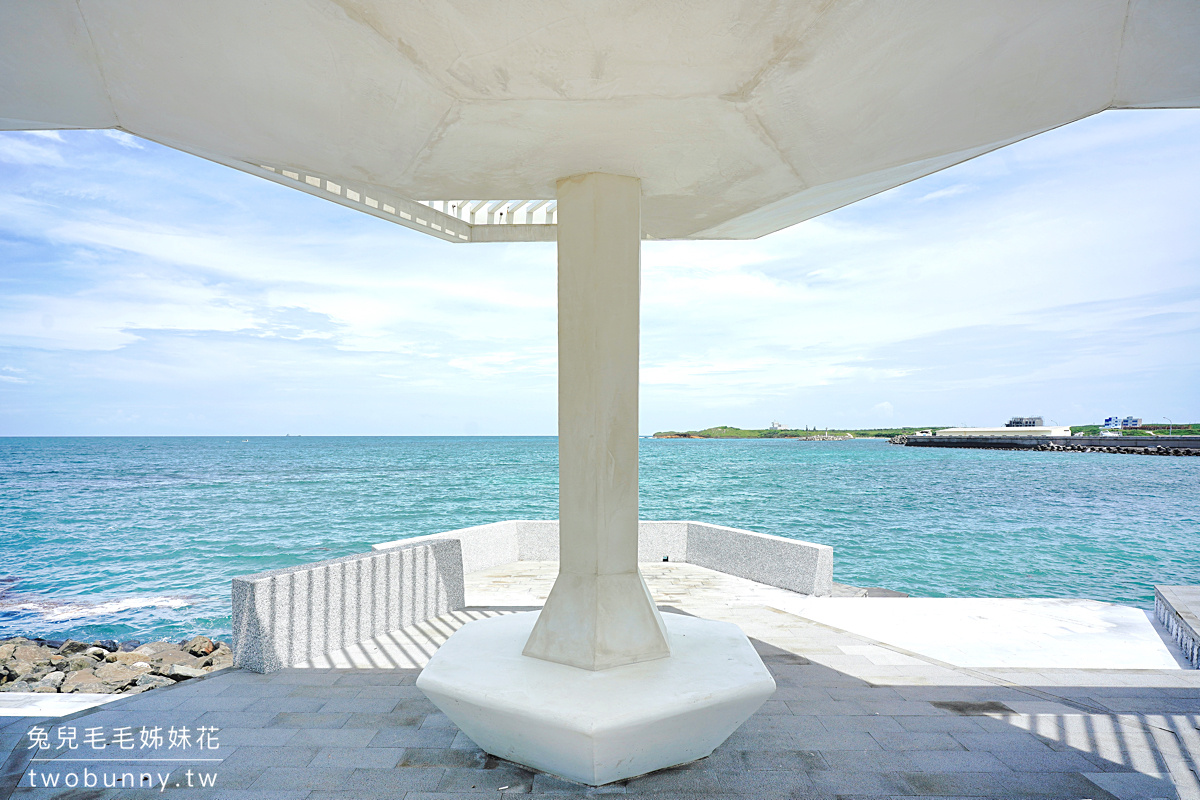
[[[224,642],[0,639],[0,692],[140,694],[233,666]]]

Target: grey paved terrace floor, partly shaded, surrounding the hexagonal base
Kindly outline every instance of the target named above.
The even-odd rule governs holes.
[[[360,667],[217,673],[43,722],[47,750],[29,750],[32,721],[0,718],[0,745],[14,747],[0,780],[19,780],[14,798],[89,799],[1200,799],[1200,670],[967,669],[781,610],[770,587],[688,565],[647,573],[665,608],[739,624],[779,686],[712,757],[686,766],[599,789],[535,775],[479,751],[413,686],[427,654],[468,619],[540,604],[552,571],[520,564],[473,576],[475,608],[338,656]],[[58,746],[67,728],[74,750]],[[163,742],[143,746],[155,728]],[[104,750],[85,742],[88,729]],[[202,775],[215,788],[200,788]],[[67,794],[71,780],[95,787]]]

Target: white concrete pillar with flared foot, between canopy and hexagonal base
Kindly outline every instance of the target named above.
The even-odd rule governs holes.
[[[605,669],[671,655],[637,569],[642,186],[558,182],[558,579],[524,655]]]

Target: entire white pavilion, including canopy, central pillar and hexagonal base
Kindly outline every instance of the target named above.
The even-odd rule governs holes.
[[[774,688],[638,572],[641,240],[763,236],[1184,107],[1196,0],[0,2],[0,130],[121,130],[450,243],[558,242],[558,581],[419,685],[488,752],[587,783],[712,752]],[[529,681],[540,722],[505,727]]]

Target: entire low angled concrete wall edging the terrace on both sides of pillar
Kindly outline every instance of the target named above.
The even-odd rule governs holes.
[[[833,589],[833,548],[700,522],[637,524],[640,561],[683,561],[805,595]],[[233,581],[234,666],[266,673],[458,610],[463,577],[557,561],[557,519],[508,519],[374,545]]]

